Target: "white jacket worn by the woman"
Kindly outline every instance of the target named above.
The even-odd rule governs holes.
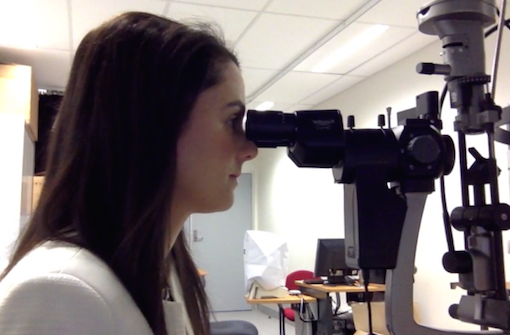
[[[172,293],[176,301],[163,302],[168,334],[192,335],[180,286]],[[0,282],[0,334],[150,335],[152,330],[101,259],[72,244],[46,242]]]

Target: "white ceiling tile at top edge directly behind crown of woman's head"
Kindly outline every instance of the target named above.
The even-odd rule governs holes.
[[[116,15],[128,11],[163,15],[165,4],[162,0],[72,0],[73,48],[90,30]]]

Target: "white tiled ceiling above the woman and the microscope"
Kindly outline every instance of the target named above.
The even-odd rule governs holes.
[[[65,87],[83,36],[125,11],[216,22],[237,52],[248,107],[311,108],[425,47],[426,0],[0,0],[0,62],[31,65],[39,88]],[[373,24],[389,29],[328,73],[311,69]]]

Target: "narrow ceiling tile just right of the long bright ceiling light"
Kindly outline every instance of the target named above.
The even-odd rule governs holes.
[[[439,39],[435,36],[424,35],[420,32],[416,32],[396,45],[393,45],[381,52],[366,63],[355,68],[349,72],[349,75],[371,76],[438,40]],[[440,50],[438,50],[438,53],[439,51]],[[423,61],[427,62],[428,60],[424,59]]]

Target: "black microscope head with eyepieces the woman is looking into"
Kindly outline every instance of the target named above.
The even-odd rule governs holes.
[[[393,129],[344,130],[338,110],[294,113],[249,110],[246,137],[260,148],[287,147],[299,167],[334,168],[351,183],[367,166],[387,171],[388,181],[434,179],[453,169],[454,146],[427,119],[407,119]]]

